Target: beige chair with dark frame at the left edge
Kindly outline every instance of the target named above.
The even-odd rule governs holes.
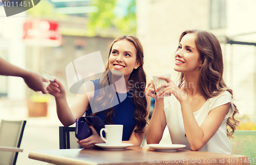
[[[15,165],[20,143],[26,121],[6,121],[1,120],[0,123],[0,164]]]

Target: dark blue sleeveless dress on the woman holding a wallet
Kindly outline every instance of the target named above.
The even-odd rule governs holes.
[[[92,82],[94,83],[94,88],[95,88],[93,99],[95,99],[99,95],[99,90],[98,90],[99,79],[92,80]],[[124,99],[124,101],[122,101],[121,103],[113,107],[115,115],[112,115],[112,121],[114,124],[123,125],[122,140],[129,140],[136,124],[134,120],[134,112],[136,107],[132,103],[132,99],[131,99],[133,96],[133,93],[131,91],[128,91],[126,94],[127,94],[127,97]],[[122,95],[122,93],[118,93],[117,97],[120,95]],[[92,109],[90,108],[86,111],[86,116],[89,116],[91,114],[92,114]],[[105,114],[102,111],[98,112],[98,116],[103,121],[103,123],[106,124],[104,121]],[[99,131],[97,132],[99,134]],[[105,136],[104,131],[103,131],[103,136]]]

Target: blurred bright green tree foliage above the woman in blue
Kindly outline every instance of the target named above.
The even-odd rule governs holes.
[[[92,0],[91,6],[96,6],[98,11],[89,14],[89,36],[111,27],[116,27],[121,34],[136,34],[136,0],[131,1],[124,16],[115,14],[116,3],[117,0]]]

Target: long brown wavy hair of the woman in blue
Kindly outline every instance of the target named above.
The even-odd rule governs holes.
[[[141,42],[138,38],[131,36],[131,35],[121,35],[117,37],[110,45],[109,47],[109,57],[112,52],[112,46],[115,42],[126,39],[127,41],[130,41],[133,43],[137,50],[136,54],[136,60],[140,62],[140,66],[137,69],[133,69],[133,72],[131,73],[129,77],[129,84],[130,84],[130,91],[132,91],[132,103],[135,105],[136,110],[134,112],[134,120],[136,122],[137,128],[134,130],[134,132],[145,132],[144,127],[147,124],[147,121],[145,120],[145,117],[147,115],[147,100],[145,96],[145,85],[146,85],[146,74],[143,69],[144,64],[144,53],[143,53],[143,47]],[[105,113],[105,122],[107,124],[114,124],[112,121],[112,115],[114,114],[114,108],[110,105],[113,104],[114,96],[116,95],[116,90],[113,88],[113,86],[110,86],[112,84],[111,82],[111,75],[109,68],[109,59],[108,62],[105,64],[105,71],[99,81],[99,95],[95,98],[95,101],[97,104],[92,105],[93,108],[98,109],[98,105],[100,105],[100,109],[106,109],[105,111],[101,111]],[[136,83],[137,82],[137,83]],[[104,90],[103,90],[104,88]],[[143,96],[141,97],[139,93],[143,93]],[[111,107],[111,108],[104,108],[104,107]],[[97,112],[99,113],[99,112]],[[97,113],[93,113],[92,116],[96,116]]]

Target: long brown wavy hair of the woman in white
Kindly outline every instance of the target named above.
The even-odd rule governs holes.
[[[203,88],[203,94],[208,97],[219,96],[223,91],[228,91],[233,99],[233,91],[230,89],[223,80],[224,64],[220,42],[217,37],[207,31],[203,30],[187,30],[184,31],[182,37],[188,33],[194,33],[196,35],[196,46],[200,53],[200,58],[203,61],[203,66],[200,69],[200,83]],[[184,82],[184,74],[180,73],[179,87]],[[227,136],[233,138],[232,134],[236,130],[239,123],[235,119],[235,116],[239,114],[238,108],[234,105],[234,112],[232,117],[228,117],[227,120]]]

